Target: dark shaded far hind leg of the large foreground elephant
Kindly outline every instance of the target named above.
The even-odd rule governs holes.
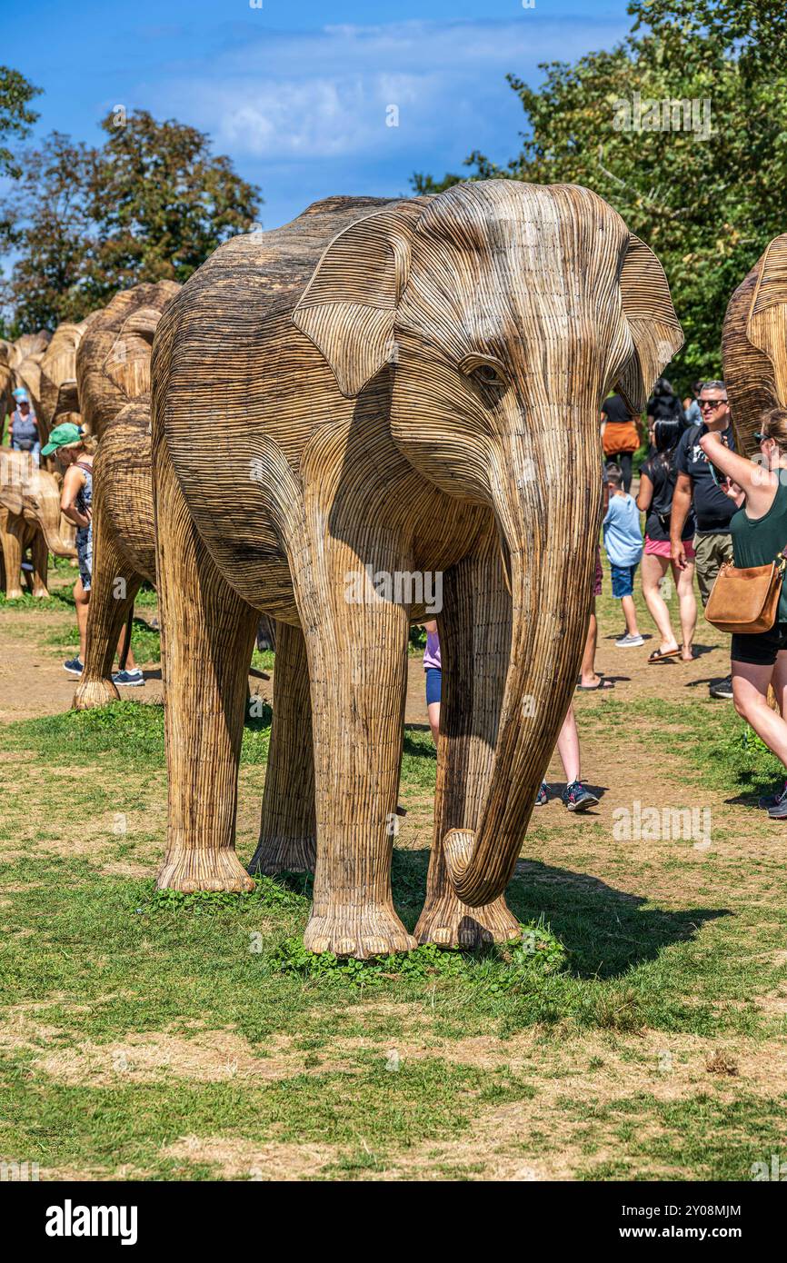
[[[260,836],[249,873],[312,873],[316,853],[315,751],[306,644],[301,628],[279,623]]]

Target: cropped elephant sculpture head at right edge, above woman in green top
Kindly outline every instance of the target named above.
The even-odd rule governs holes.
[[[787,405],[787,232],[773,239],[730,298],[721,355],[735,443],[754,456],[763,413]]]

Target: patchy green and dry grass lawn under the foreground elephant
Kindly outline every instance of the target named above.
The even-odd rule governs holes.
[[[152,609],[155,594],[147,599]],[[56,600],[71,615],[68,599]],[[611,601],[601,605],[610,623]],[[33,625],[27,605],[20,615]],[[273,654],[254,664],[269,668]],[[9,777],[24,781],[0,817],[0,1019],[13,1009],[49,1032],[33,1036],[33,1047],[6,1042],[0,1056],[0,1149],[51,1168],[205,1180],[224,1173],[210,1156],[165,1149],[184,1135],[219,1135],[327,1146],[332,1157],[316,1178],[361,1180],[412,1158],[428,1178],[471,1180],[488,1173],[493,1144],[472,1140],[474,1128],[512,1105],[508,1143],[523,1167],[565,1152],[575,1178],[748,1178],[752,1162],[787,1143],[781,1062],[760,1092],[701,1067],[716,1046],[755,1048],[764,1066],[779,1047],[782,1015],[760,999],[784,984],[782,851],[753,808],[747,836],[733,818],[778,764],[729,706],[701,688],[690,701],[619,691],[580,697],[577,710],[582,736],[608,743],[610,772],[624,748],[676,801],[712,801],[715,847],[702,863],[691,841],[634,854],[600,820],[568,829],[553,805],[533,820],[527,863],[507,894],[532,940],[366,962],[304,951],[308,877],[261,879],[246,895],[183,895],[112,870],[150,874],[162,854],[160,706],[123,701],[0,726]],[[269,710],[244,731],[244,861],[269,734]],[[430,807],[435,775],[428,731],[408,727],[400,801],[409,815],[393,893],[411,930],[428,865],[412,821]],[[128,817],[120,835],[117,813]],[[83,839],[91,845],[69,853],[69,840]],[[263,1063],[284,1041],[292,1063],[280,1077],[215,1081],[167,1068],[140,1081],[119,1071],[71,1082],[57,1072],[58,1058],[67,1067],[86,1041],[111,1065],[119,1050],[133,1058],[135,1037],[197,1046],[205,1031],[245,1041]],[[700,1066],[675,1098],[657,1090],[653,1037],[676,1063],[694,1056]],[[494,1065],[452,1060],[451,1047],[466,1041],[491,1041]],[[509,1048],[519,1050],[514,1070]],[[575,1090],[580,1067],[590,1084]],[[241,1164],[236,1177],[250,1172]]]

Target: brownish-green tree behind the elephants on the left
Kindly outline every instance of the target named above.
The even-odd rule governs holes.
[[[259,189],[203,133],[144,110],[101,126],[101,147],[53,133],[27,153],[24,184],[0,206],[15,250],[4,297],[20,331],[81,320],[143,280],[183,282],[255,221]]]

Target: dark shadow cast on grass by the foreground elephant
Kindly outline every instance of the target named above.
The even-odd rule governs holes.
[[[394,904],[408,928],[423,907],[428,863],[428,850],[394,849]],[[543,916],[571,954],[576,978],[616,978],[657,959],[664,947],[695,938],[706,921],[731,916],[728,908],[648,908],[646,895],[615,890],[585,873],[536,860],[519,860],[505,898],[522,922]]]

